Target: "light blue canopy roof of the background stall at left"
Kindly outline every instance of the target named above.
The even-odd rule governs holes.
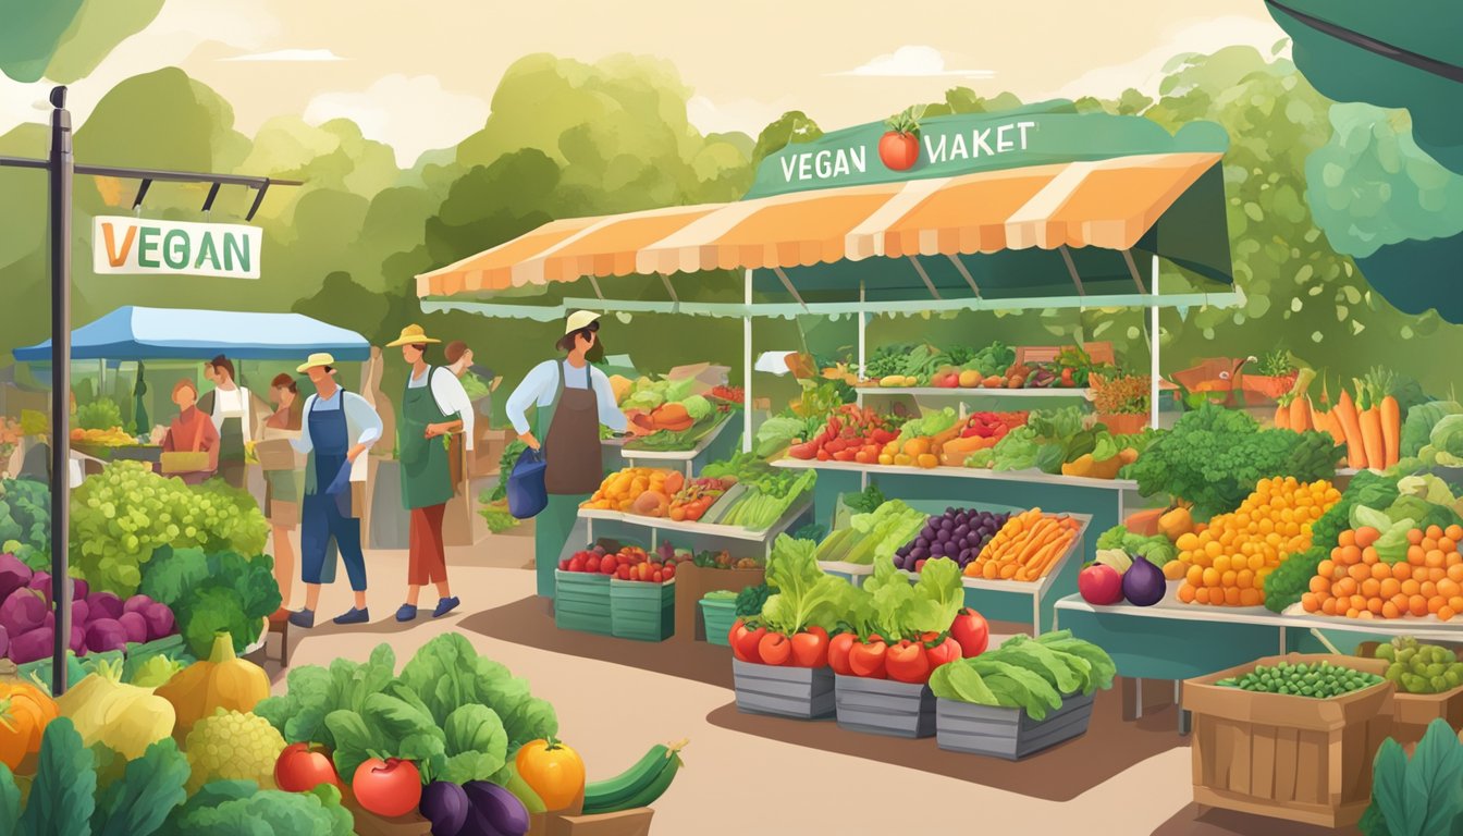
[[[370,343],[301,313],[253,313],[124,306],[72,331],[73,360],[296,360],[329,351],[336,360],[370,357]],[[20,362],[48,362],[51,341],[15,350]]]

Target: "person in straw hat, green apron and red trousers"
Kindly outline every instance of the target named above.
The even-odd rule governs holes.
[[[461,404],[467,392],[456,375],[427,365],[427,346],[440,343],[427,337],[420,325],[407,325],[388,348],[401,348],[411,365],[407,389],[401,395],[401,420],[396,422],[396,458],[401,460],[401,502],[411,512],[407,558],[407,602],[396,611],[396,621],[417,618],[417,597],[424,584],[437,586],[437,606],[432,618],[456,609],[458,599],[448,586],[446,551],[442,545],[442,518],[448,501],[456,493],[448,463],[448,436],[462,429]]]

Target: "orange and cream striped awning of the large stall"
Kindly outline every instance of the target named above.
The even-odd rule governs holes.
[[[1208,152],[1150,154],[568,218],[418,275],[417,294],[872,256],[1127,250],[1219,161]]]

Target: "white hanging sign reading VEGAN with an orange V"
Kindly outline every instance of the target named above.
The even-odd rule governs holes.
[[[98,275],[259,278],[262,249],[263,230],[243,224],[98,217],[92,225]]]

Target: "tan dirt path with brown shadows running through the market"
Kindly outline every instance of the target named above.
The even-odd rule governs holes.
[[[1189,750],[1173,732],[1173,714],[1124,723],[1113,693],[1099,700],[1086,736],[1014,764],[942,753],[930,739],[742,714],[726,649],[554,630],[546,605],[533,597],[533,572],[521,568],[530,552],[531,540],[522,537],[456,551],[449,561],[461,612],[442,619],[424,613],[410,625],[392,619],[405,553],[373,552],[375,621],[297,631],[291,666],[364,659],[380,641],[405,660],[437,632],[459,630],[553,703],[562,736],[584,757],[591,779],[620,772],[654,742],[691,738],[686,769],[655,804],[654,833],[664,836],[856,836],[949,832],[955,823],[1033,836],[1314,833],[1222,814],[1195,820]],[[426,593],[423,605],[433,600]],[[347,606],[344,584],[325,591],[322,615]]]

